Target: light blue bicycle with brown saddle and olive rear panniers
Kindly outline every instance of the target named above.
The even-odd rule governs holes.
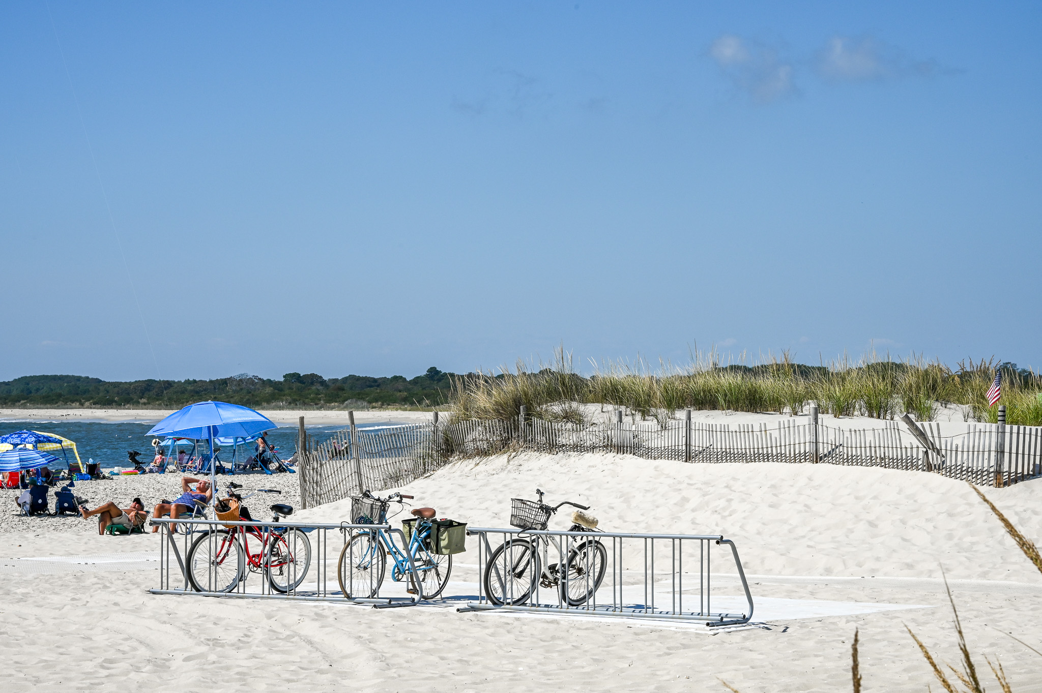
[[[359,496],[351,496],[351,523],[384,524],[389,519],[387,512],[391,504],[404,506],[405,498],[412,499],[413,496],[392,493],[386,498],[380,498],[369,491],[363,492]],[[402,510],[400,507],[392,517]],[[380,585],[383,584],[389,554],[394,560],[391,580],[396,583],[403,579],[412,581],[410,594],[419,593],[422,599],[433,599],[445,590],[445,586],[449,583],[449,574],[452,572],[452,557],[435,554],[432,550],[431,520],[437,513],[433,508],[417,508],[411,512],[415,519],[406,520],[406,533],[410,536],[408,545],[404,550],[399,548],[383,530],[361,530],[344,544],[344,548],[340,551],[340,560],[337,562],[337,580],[340,582],[340,591],[345,597],[376,596]],[[408,530],[410,527],[412,531]],[[410,557],[416,566],[416,574],[413,574],[410,568]]]

